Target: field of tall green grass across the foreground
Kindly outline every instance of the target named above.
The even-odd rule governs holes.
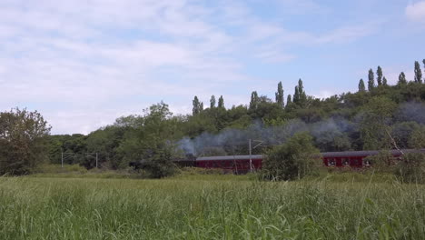
[[[425,187],[329,178],[0,177],[0,239],[424,239]]]

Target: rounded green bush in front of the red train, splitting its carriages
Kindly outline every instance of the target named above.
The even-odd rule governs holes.
[[[265,176],[276,180],[301,179],[317,171],[319,150],[307,133],[293,135],[285,144],[272,148],[263,161]]]

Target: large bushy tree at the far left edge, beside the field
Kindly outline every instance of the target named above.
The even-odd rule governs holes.
[[[28,174],[47,160],[50,128],[36,111],[16,107],[0,113],[0,175]]]

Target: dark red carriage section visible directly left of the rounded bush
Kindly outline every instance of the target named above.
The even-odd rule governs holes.
[[[203,168],[221,168],[236,174],[244,174],[250,170],[262,169],[262,155],[221,155],[196,158],[195,166]]]

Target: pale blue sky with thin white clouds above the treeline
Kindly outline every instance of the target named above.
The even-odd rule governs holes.
[[[163,101],[190,114],[390,84],[425,58],[425,1],[0,0],[0,111],[37,110],[52,134],[88,134]]]

